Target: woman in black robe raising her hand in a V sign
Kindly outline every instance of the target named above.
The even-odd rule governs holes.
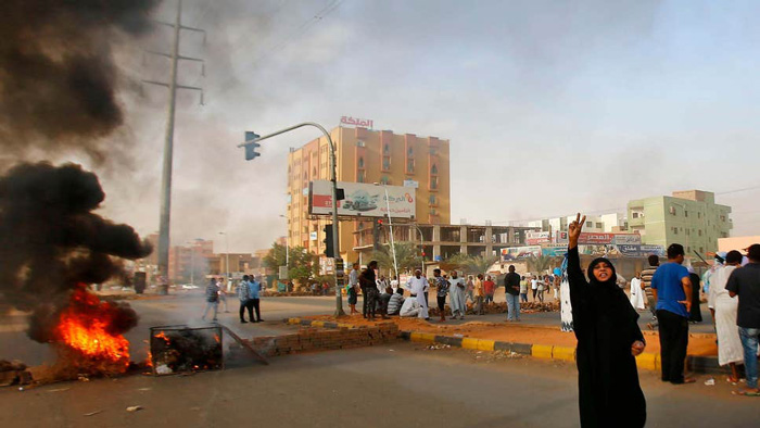
[[[616,284],[615,266],[607,259],[581,270],[578,238],[585,216],[568,228],[568,280],[578,348],[581,426],[643,427],[646,400],[638,385],[635,355],[644,351],[638,314]]]

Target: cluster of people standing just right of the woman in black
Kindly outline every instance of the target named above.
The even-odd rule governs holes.
[[[661,265],[657,255],[648,257],[649,266],[631,279],[629,298],[634,310],[650,311],[647,326],[659,332],[662,380],[695,381],[685,375],[684,367],[688,325],[702,322],[699,291],[704,289],[717,335],[718,362],[731,370],[726,380],[739,383],[737,365],[744,365],[747,388],[735,393],[760,396],[757,385],[760,244],[750,246],[746,256],[737,250],[718,255],[705,275],[704,287],[702,278],[683,266],[683,246],[671,244],[667,257],[668,262]]]

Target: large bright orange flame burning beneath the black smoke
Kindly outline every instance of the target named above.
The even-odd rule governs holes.
[[[112,306],[80,287],[61,313],[56,333],[64,344],[85,357],[126,370],[129,342],[122,335],[109,332],[112,322]]]

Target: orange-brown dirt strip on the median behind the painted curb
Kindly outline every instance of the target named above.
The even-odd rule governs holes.
[[[307,319],[330,320],[338,323],[346,323],[355,326],[371,326],[378,322],[369,322],[357,316],[345,316],[335,319],[330,315],[318,315],[304,317]],[[460,335],[466,338],[492,339],[505,342],[530,343],[530,344],[549,344],[559,347],[575,347],[578,343],[575,335],[572,332],[563,332],[557,327],[548,326],[532,326],[521,323],[482,323],[469,322],[460,325],[445,325],[429,323],[419,318],[398,318],[391,317],[389,320],[395,323],[398,329],[403,331],[422,331],[431,332],[441,336]],[[646,339],[646,352],[659,353],[660,341],[657,331],[643,331]],[[715,344],[715,335],[693,333],[688,338],[688,354],[701,356],[718,355],[718,345]]]

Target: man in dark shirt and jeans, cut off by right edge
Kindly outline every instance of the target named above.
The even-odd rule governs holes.
[[[725,289],[733,298],[739,297],[736,324],[744,348],[744,369],[747,374],[747,389],[734,393],[760,396],[758,389],[758,342],[760,341],[760,243],[747,249],[749,263],[735,269],[729,277]]]

